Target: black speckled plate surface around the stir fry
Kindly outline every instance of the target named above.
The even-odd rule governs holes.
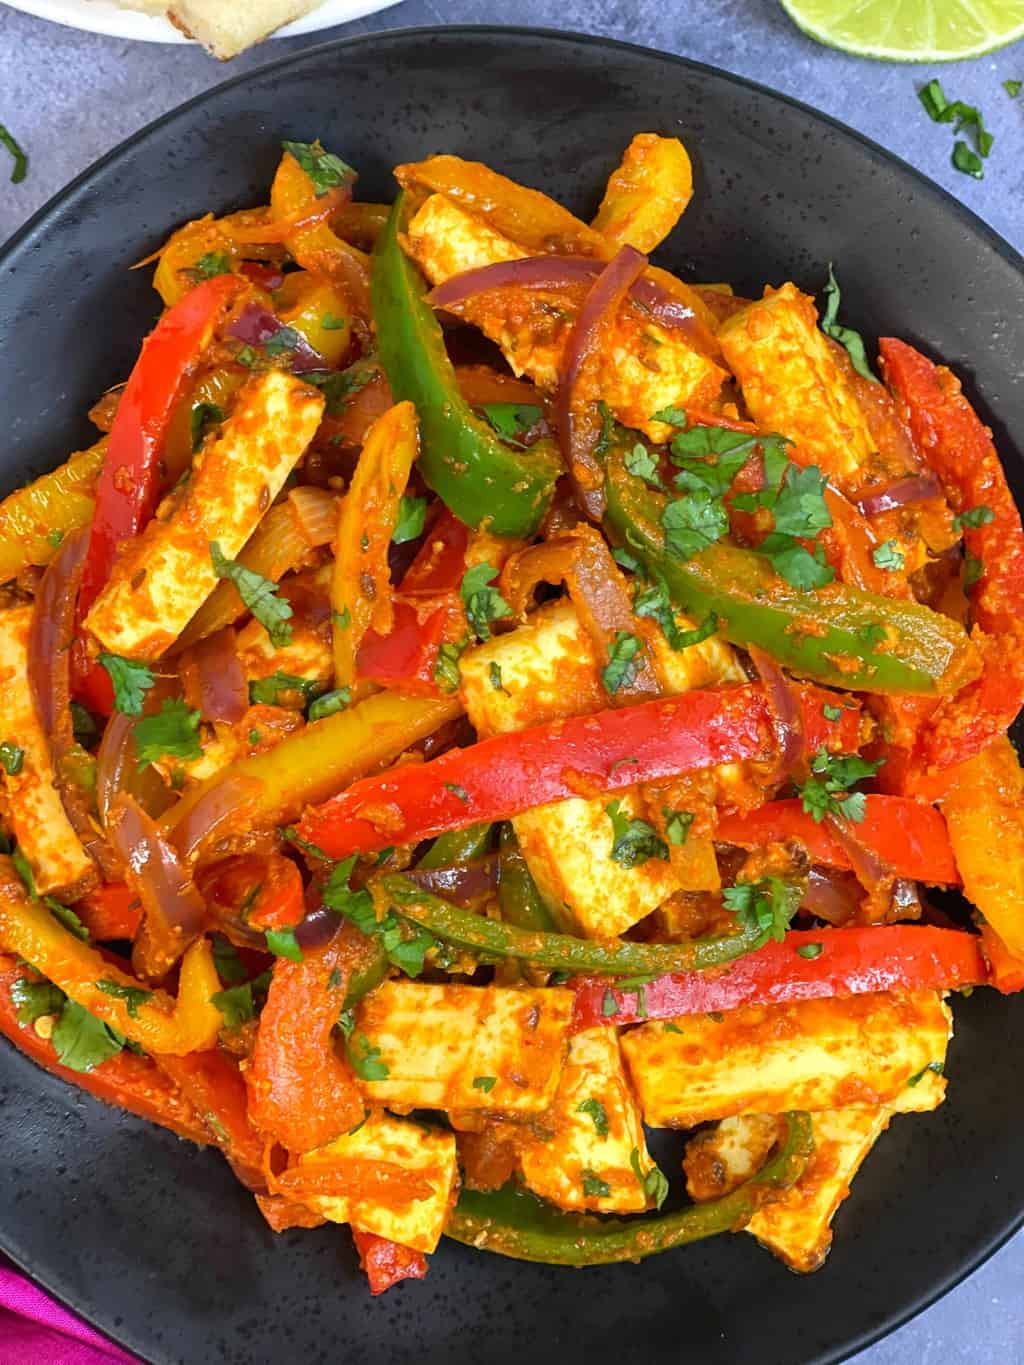
[[[866,68],[867,70],[867,68]],[[0,261],[3,479],[63,459],[156,317],[127,266],[169,225],[265,201],[281,138],[324,142],[392,194],[430,152],[486,160],[584,216],[638,130],[679,134],[694,202],[661,254],[744,292],[834,261],[844,315],[956,364],[1024,461],[1024,262],[881,149],[745,81],[621,44],[511,29],[355,38],[202,96],[45,209]],[[1024,1219],[1024,1007],[956,1005],[950,1099],[897,1118],[814,1279],[745,1235],[642,1267],[520,1265],[442,1244],[430,1275],[373,1301],[341,1228],[274,1238],[227,1166],[82,1096],[0,1047],[0,1241],[153,1361],[500,1362],[838,1360],[990,1254]]]

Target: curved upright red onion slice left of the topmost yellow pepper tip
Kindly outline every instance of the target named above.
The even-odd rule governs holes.
[[[579,388],[590,359],[601,344],[601,329],[613,318],[634,281],[647,265],[635,247],[621,247],[594,280],[565,343],[565,354],[554,401],[554,425],[565,463],[580,501],[595,520],[603,512],[603,474],[594,459],[597,426],[590,414],[579,411]]]

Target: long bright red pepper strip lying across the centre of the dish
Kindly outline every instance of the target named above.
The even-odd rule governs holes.
[[[836,693],[814,687],[795,691],[812,752],[822,745],[847,753],[859,747],[857,707],[844,707],[838,721],[829,721],[822,706]],[[429,763],[362,778],[307,809],[299,831],[332,857],[374,853],[509,819],[549,801],[763,759],[773,744],[771,707],[759,684],[703,688],[496,734]]]

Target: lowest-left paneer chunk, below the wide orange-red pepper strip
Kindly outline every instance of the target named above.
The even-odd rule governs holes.
[[[396,1179],[393,1194],[386,1192],[384,1181],[365,1182],[360,1189],[360,1174],[367,1167],[380,1171],[386,1166],[393,1167],[396,1175],[404,1173],[408,1181]],[[296,1182],[313,1177],[329,1181],[328,1173],[337,1173],[339,1189],[348,1186],[351,1193],[309,1194],[300,1185],[292,1192],[287,1183],[287,1177],[292,1174]],[[330,1223],[351,1223],[401,1246],[433,1252],[448,1218],[456,1175],[455,1133],[427,1130],[421,1123],[374,1111],[351,1133],[306,1152],[298,1170],[287,1173],[283,1183],[287,1183],[291,1197]],[[407,1193],[403,1183],[415,1186],[416,1197],[403,1197]]]

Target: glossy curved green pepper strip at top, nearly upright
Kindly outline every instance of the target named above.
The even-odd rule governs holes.
[[[528,538],[552,500],[561,459],[549,440],[513,450],[459,393],[441,324],[425,302],[423,277],[399,240],[404,198],[395,201],[377,242],[371,298],[395,401],[410,400],[419,416],[416,468],[460,521]]]

